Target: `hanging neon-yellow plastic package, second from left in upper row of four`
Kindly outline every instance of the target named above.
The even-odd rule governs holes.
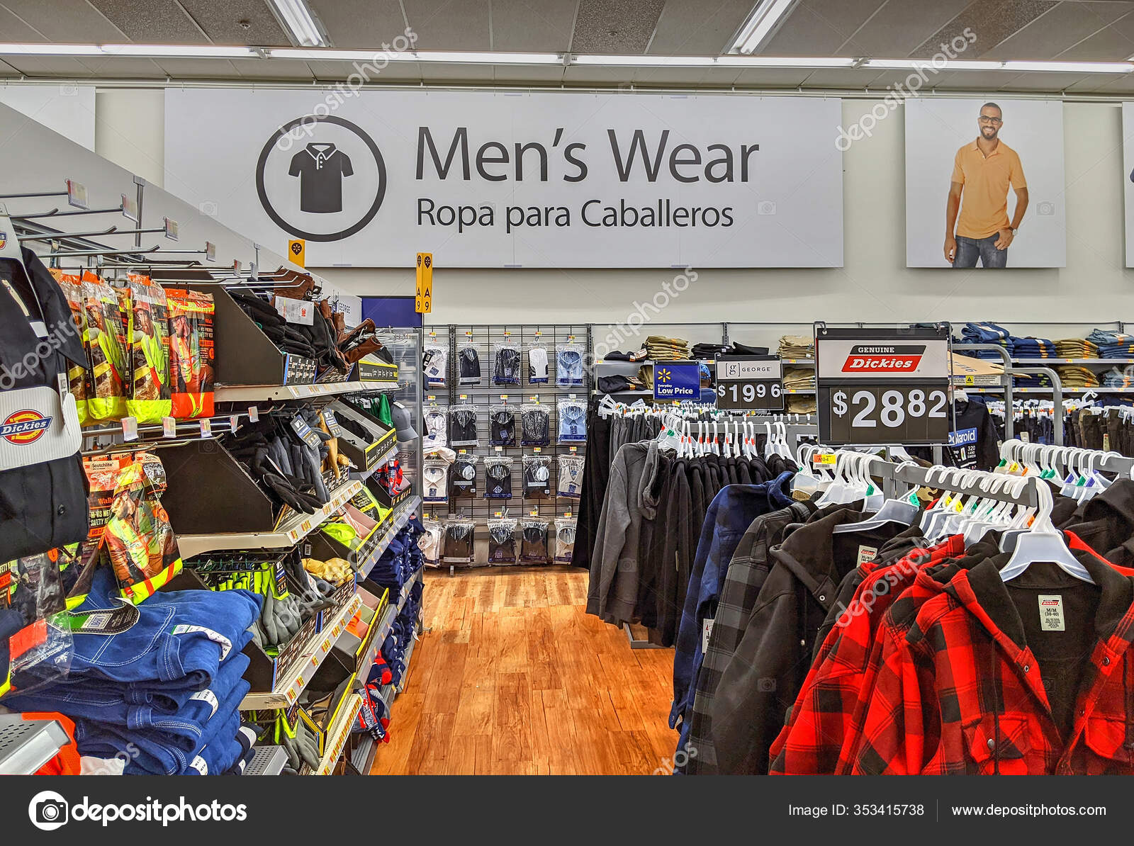
[[[126,322],[115,289],[91,272],[83,273],[92,390],[90,420],[121,420],[126,415]]]

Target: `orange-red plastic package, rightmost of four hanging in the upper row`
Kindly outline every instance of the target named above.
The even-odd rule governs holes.
[[[169,372],[174,416],[179,420],[213,415],[212,294],[169,289]]]

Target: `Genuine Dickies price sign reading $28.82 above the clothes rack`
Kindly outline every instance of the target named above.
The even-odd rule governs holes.
[[[830,446],[947,443],[949,329],[815,328],[819,438]]]

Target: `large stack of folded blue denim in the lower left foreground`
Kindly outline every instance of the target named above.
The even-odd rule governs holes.
[[[191,590],[124,606],[100,568],[69,612],[67,679],[3,704],[71,718],[79,753],[110,759],[108,769],[124,762],[127,775],[239,771],[254,739],[238,710],[248,692],[242,650],[261,602],[251,591]]]

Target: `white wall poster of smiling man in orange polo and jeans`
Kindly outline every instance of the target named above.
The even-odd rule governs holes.
[[[905,112],[906,267],[1066,267],[1063,103],[912,99]]]

